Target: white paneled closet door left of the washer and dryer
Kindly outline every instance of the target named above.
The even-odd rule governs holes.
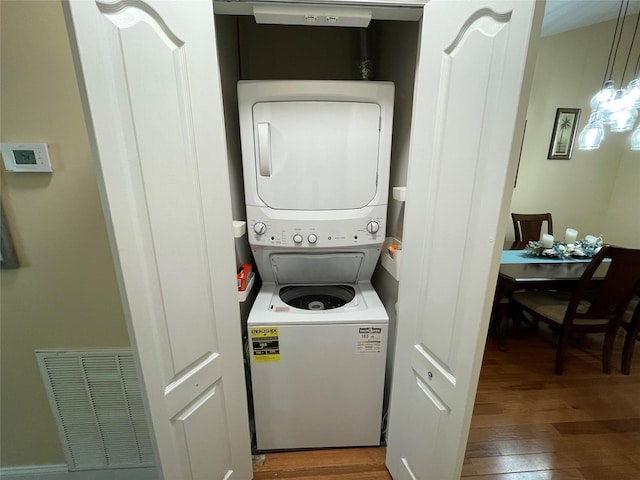
[[[64,2],[165,480],[248,480],[213,3]]]

